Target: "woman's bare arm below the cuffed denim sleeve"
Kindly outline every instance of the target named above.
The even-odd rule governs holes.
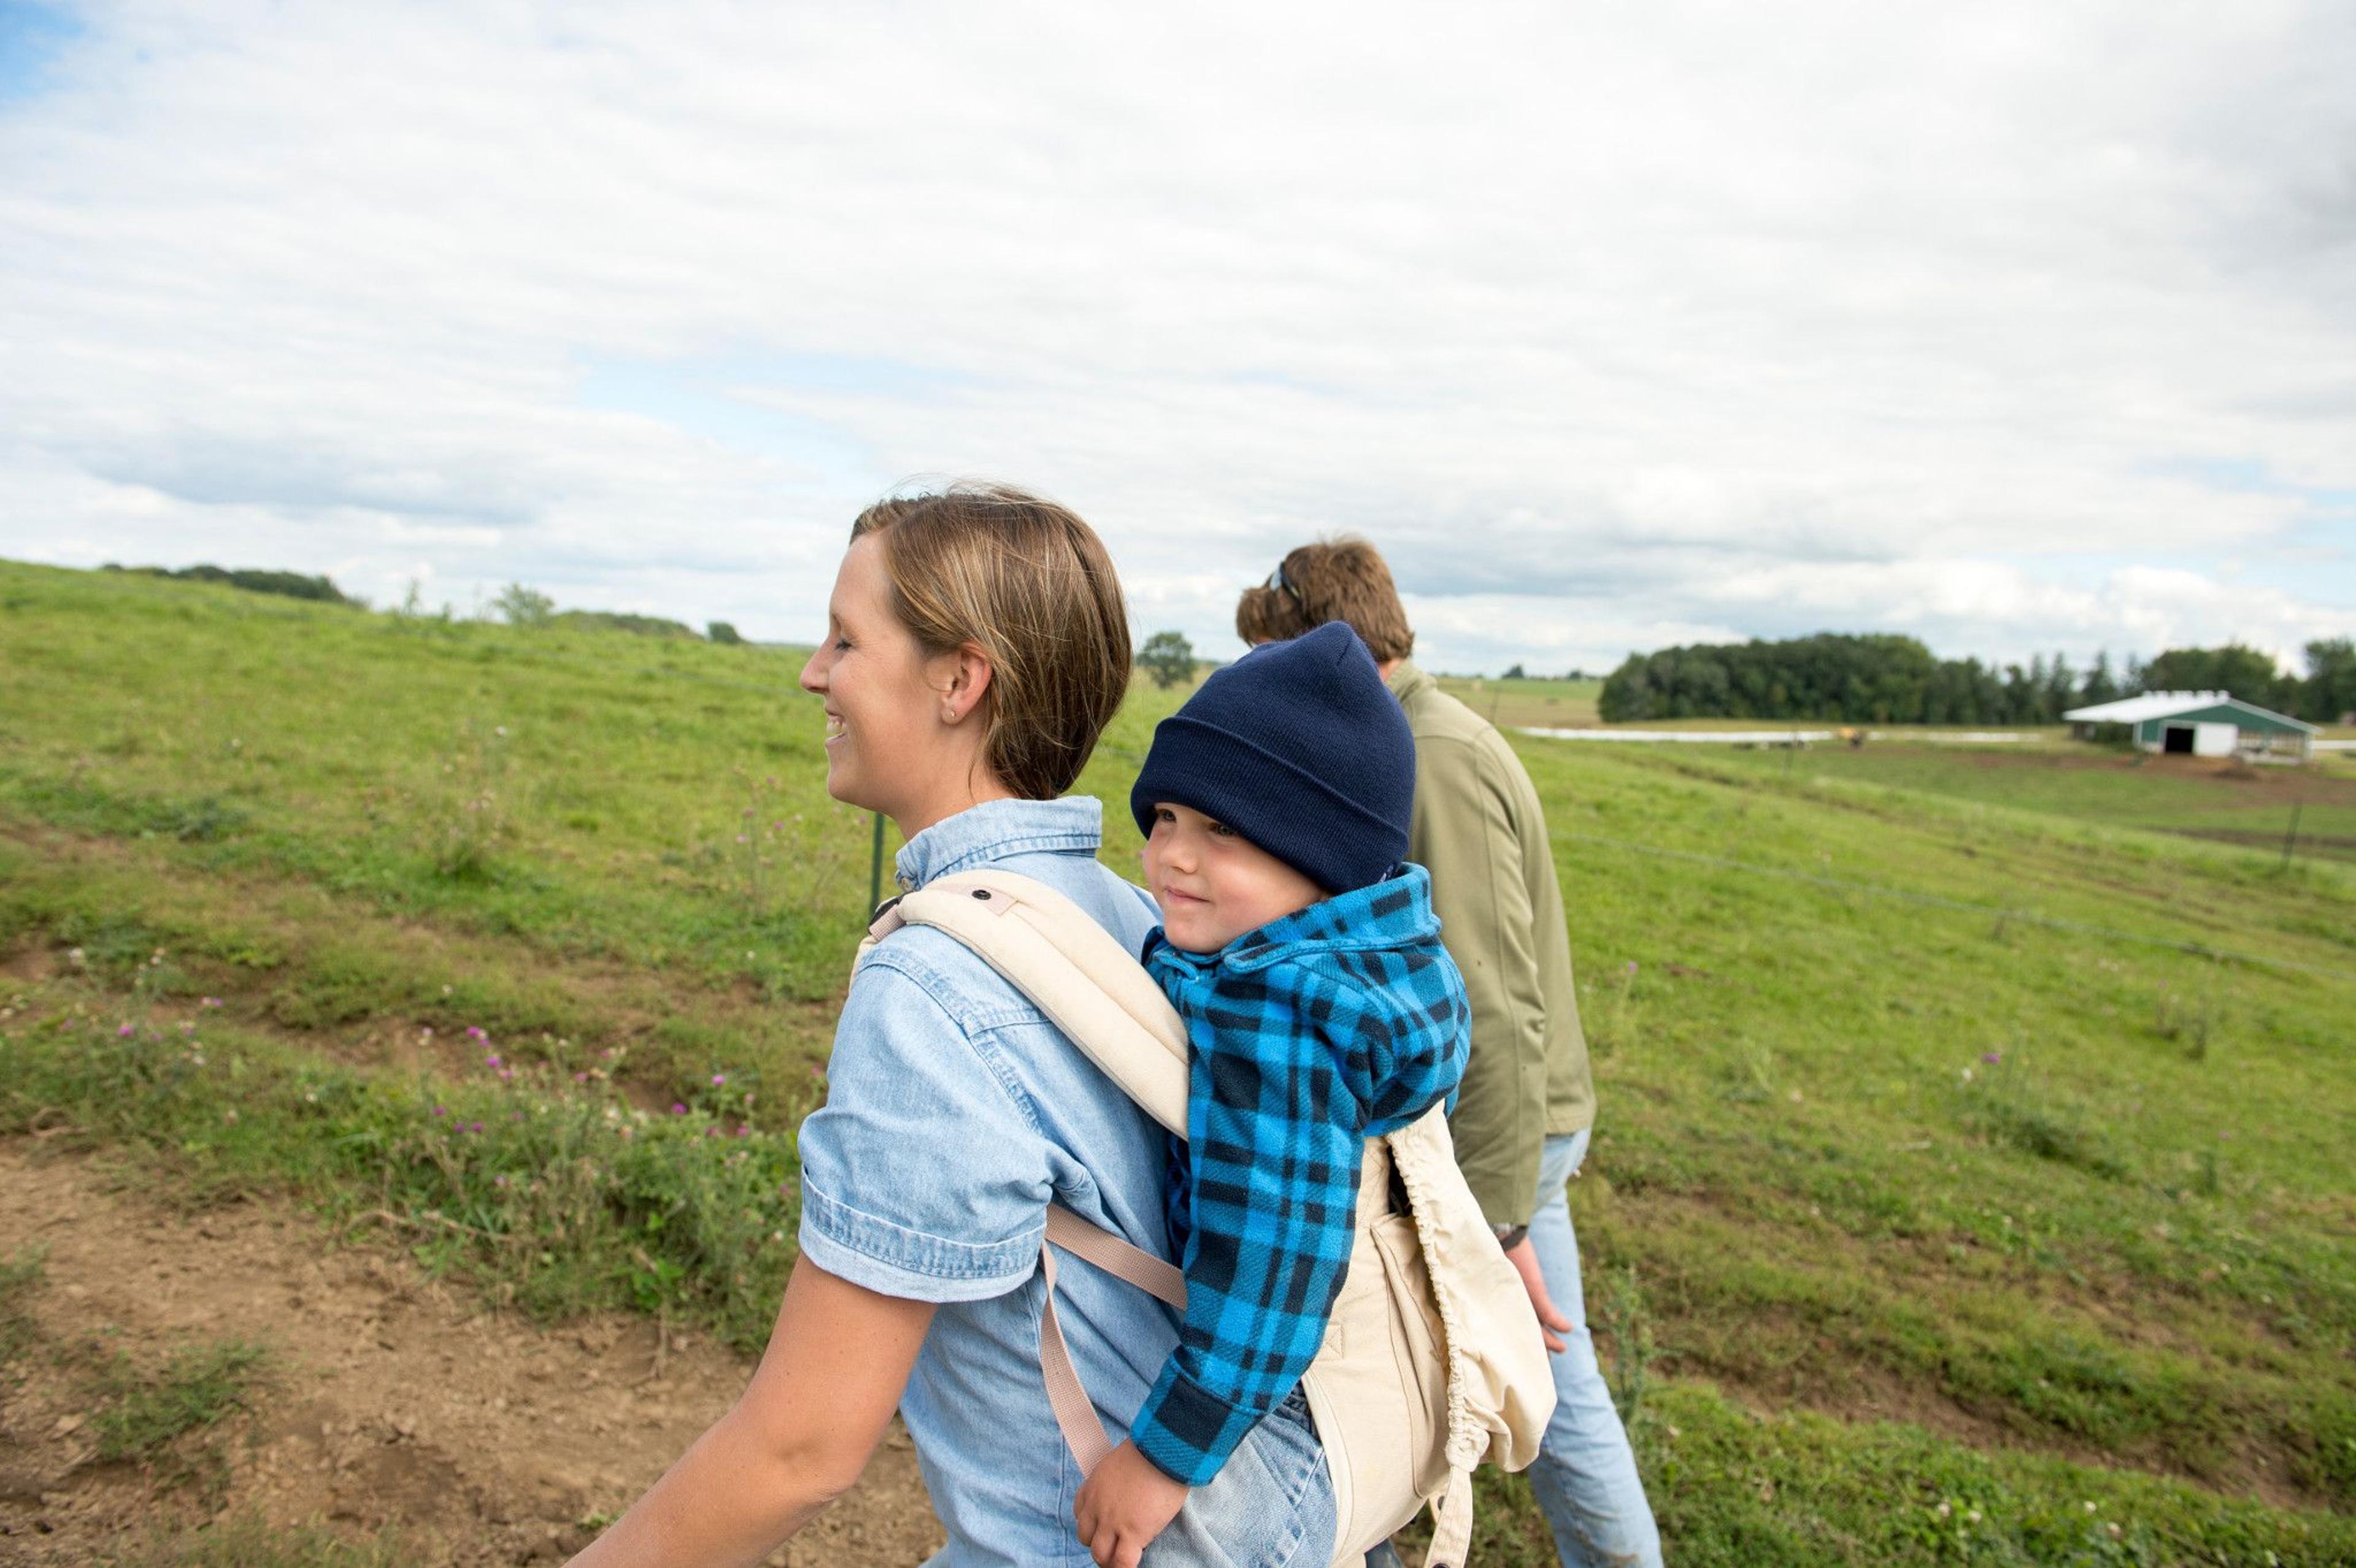
[[[752,1387],[573,1568],[754,1568],[860,1479],[931,1326],[796,1262]]]

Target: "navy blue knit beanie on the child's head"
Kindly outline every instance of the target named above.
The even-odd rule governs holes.
[[[1416,737],[1374,655],[1343,622],[1263,643],[1154,727],[1129,791],[1138,831],[1157,803],[1225,822],[1331,892],[1407,859]]]

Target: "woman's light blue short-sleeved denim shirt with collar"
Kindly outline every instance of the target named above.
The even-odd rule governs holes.
[[[990,800],[900,850],[902,890],[975,866],[1032,876],[1138,951],[1143,890],[1096,862],[1103,808]],[[801,1123],[801,1255],[855,1285],[940,1302],[900,1415],[949,1533],[940,1568],[1088,1563],[1079,1467],[1039,1375],[1039,1241],[1063,1203],[1169,1257],[1162,1130],[990,965],[909,925],[851,979],[827,1104]],[[1088,1264],[1058,1316],[1117,1436],[1178,1344],[1169,1309]],[[1147,1563],[1322,1568],[1333,1500],[1305,1420],[1260,1422],[1253,1462],[1197,1490]],[[1242,1450],[1239,1450],[1242,1453]]]

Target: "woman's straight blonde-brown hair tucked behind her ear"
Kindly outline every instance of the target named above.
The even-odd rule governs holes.
[[[926,655],[990,657],[990,770],[1027,800],[1067,791],[1129,695],[1129,607],[1096,530],[1011,485],[949,485],[876,501],[851,525],[867,537]]]

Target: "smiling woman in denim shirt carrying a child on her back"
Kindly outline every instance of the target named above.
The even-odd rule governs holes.
[[[1001,866],[1143,944],[1152,904],[1096,864],[1100,805],[1055,798],[1129,690],[1119,579],[1086,523],[1015,490],[869,506],[801,685],[827,706],[827,793],[907,838],[902,890]],[[827,1081],[801,1128],[801,1260],[752,1387],[575,1563],[759,1563],[851,1488],[893,1408],[949,1533],[935,1563],[1088,1563],[1039,1373],[1039,1241],[1055,1201],[1166,1257],[1159,1130],[928,928],[860,963]],[[1086,1264],[1063,1269],[1058,1316],[1126,1429],[1176,1321]],[[1154,1542],[1157,1568],[1326,1563],[1333,1493],[1298,1396],[1246,1448]]]

